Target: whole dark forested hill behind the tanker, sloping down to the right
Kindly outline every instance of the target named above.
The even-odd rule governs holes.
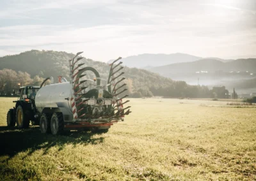
[[[86,56],[86,53],[82,54]],[[68,59],[72,59],[74,54],[67,52],[38,51],[31,50],[19,55],[8,55],[0,57],[0,71],[4,69],[13,69],[14,71],[27,72],[34,76],[46,78],[53,76],[65,76],[68,79]],[[104,62],[83,59],[84,66],[92,66],[97,69],[102,78],[107,78],[109,65]],[[188,85],[186,82],[173,81],[170,78],[159,76],[156,73],[144,69],[124,68],[126,83],[129,94],[134,97],[141,96],[166,96],[166,97],[211,97],[211,92],[207,87]],[[90,78],[92,75],[88,74]],[[0,83],[1,80],[0,72]],[[2,88],[1,88],[2,87]],[[0,91],[4,91],[3,85],[0,85]]]

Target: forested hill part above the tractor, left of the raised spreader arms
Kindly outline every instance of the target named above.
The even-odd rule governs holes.
[[[42,77],[68,75],[68,59],[74,54],[54,51],[31,50],[19,55],[0,57],[0,69],[28,72],[31,76]],[[86,60],[88,62],[88,60]]]

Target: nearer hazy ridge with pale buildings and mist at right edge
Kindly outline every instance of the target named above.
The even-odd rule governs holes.
[[[209,87],[225,85],[229,90],[236,87],[240,92],[256,92],[256,83],[253,83],[256,80],[256,59],[237,59],[228,62],[200,59],[194,62],[158,66],[148,70],[173,80],[186,81],[192,85],[200,84]]]

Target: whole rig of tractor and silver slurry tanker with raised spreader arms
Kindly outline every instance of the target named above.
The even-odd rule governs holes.
[[[70,59],[70,81],[60,78],[59,83],[54,83],[53,78],[46,78],[40,87],[20,87],[20,98],[15,107],[7,113],[7,125],[28,128],[29,120],[35,125],[40,125],[42,133],[61,134],[64,129],[90,129],[93,132],[106,133],[118,121],[123,121],[124,116],[130,112],[122,102],[126,84],[121,83],[125,78],[120,78],[124,72],[122,62],[115,64],[109,71],[108,80],[102,83],[99,72],[92,67],[84,67],[84,63],[77,64],[83,57],[77,57],[83,52],[78,52]],[[85,71],[92,71],[94,80],[84,79]],[[50,85],[44,85],[51,80]],[[29,94],[30,93],[30,94]],[[35,95],[35,97],[33,97]],[[122,95],[122,96],[121,96]]]

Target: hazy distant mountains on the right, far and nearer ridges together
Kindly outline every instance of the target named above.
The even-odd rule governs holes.
[[[111,61],[109,61],[111,62]],[[226,85],[246,92],[252,90],[256,80],[256,59],[220,59],[197,57],[189,54],[140,54],[122,59],[125,66],[147,69],[172,80],[186,81],[192,85]],[[243,85],[243,86],[242,86]]]

